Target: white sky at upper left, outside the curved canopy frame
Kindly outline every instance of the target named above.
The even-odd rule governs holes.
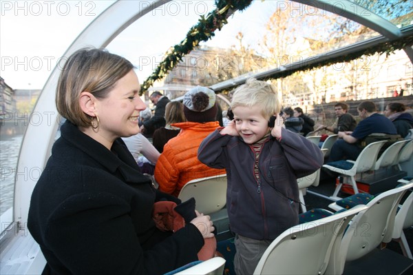
[[[0,0],[0,77],[41,89],[78,34],[114,1]]]

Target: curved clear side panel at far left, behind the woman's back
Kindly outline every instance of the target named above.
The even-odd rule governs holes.
[[[70,43],[112,3],[1,2],[0,232],[12,223],[15,177],[30,176],[17,161],[41,88]]]

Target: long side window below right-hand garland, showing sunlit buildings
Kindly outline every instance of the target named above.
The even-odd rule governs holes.
[[[282,92],[284,106],[303,109],[335,101],[409,96],[412,94],[411,64],[407,54],[397,50],[388,57],[375,54],[348,63],[297,72],[274,83]]]

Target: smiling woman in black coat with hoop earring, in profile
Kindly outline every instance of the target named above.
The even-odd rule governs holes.
[[[156,227],[158,201],[185,204],[154,189],[120,139],[139,132],[139,91],[134,65],[105,50],[78,50],[61,70],[56,105],[66,121],[28,216],[43,274],[165,274],[197,261],[213,237],[195,210],[174,233]]]

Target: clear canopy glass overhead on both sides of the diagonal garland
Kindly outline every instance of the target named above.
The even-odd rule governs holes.
[[[189,28],[198,23],[200,15],[213,10],[211,2],[187,7],[172,1],[133,23],[107,49],[135,63],[142,83],[165,58],[169,47],[180,43]],[[164,12],[162,17],[158,17],[160,12]],[[183,18],[182,12],[187,12]],[[209,41],[186,54],[175,70],[150,90],[163,89],[173,99],[194,85],[213,85],[302,63],[317,54],[379,35],[345,17],[293,1],[253,1],[246,10],[234,12],[228,22]]]

